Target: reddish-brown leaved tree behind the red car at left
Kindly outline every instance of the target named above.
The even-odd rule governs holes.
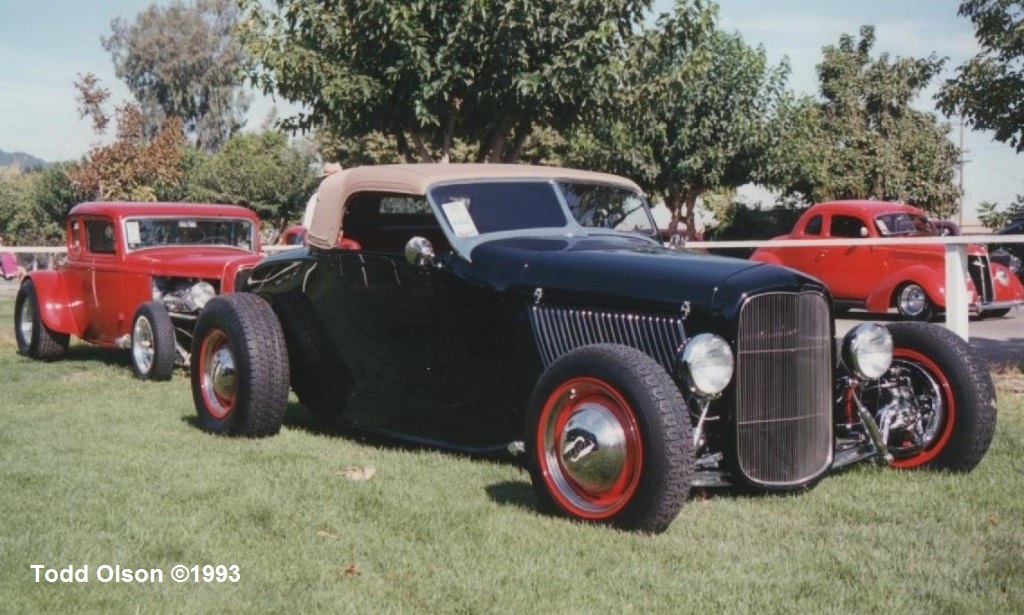
[[[110,116],[104,104],[110,91],[99,87],[91,75],[75,83],[79,91],[79,114],[90,117],[100,134]],[[109,145],[93,145],[85,160],[69,170],[77,196],[82,201],[155,201],[165,185],[180,181],[184,137],[181,121],[167,118],[161,129],[146,137],[142,113],[126,103],[115,113],[116,140]]]

